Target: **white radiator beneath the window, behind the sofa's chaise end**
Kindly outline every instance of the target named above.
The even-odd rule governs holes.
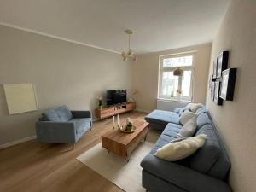
[[[173,111],[174,108],[184,108],[189,102],[179,102],[179,101],[172,101],[172,100],[157,100],[157,109],[164,110],[164,111]]]

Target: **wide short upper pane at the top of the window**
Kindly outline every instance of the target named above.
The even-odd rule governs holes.
[[[163,67],[192,66],[193,56],[180,56],[163,59]]]

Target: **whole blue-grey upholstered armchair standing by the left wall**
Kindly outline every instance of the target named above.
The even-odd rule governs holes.
[[[41,143],[70,143],[74,148],[91,125],[90,111],[70,111],[67,106],[49,109],[36,123],[37,140]]]

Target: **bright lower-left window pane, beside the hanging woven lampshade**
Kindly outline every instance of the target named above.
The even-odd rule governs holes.
[[[173,72],[164,72],[162,78],[162,96],[177,96],[178,77]]]

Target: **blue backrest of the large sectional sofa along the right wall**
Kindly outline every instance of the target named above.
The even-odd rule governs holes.
[[[206,134],[207,142],[189,157],[189,166],[198,172],[224,180],[230,171],[230,160],[205,108],[198,115],[197,126],[195,135]]]

